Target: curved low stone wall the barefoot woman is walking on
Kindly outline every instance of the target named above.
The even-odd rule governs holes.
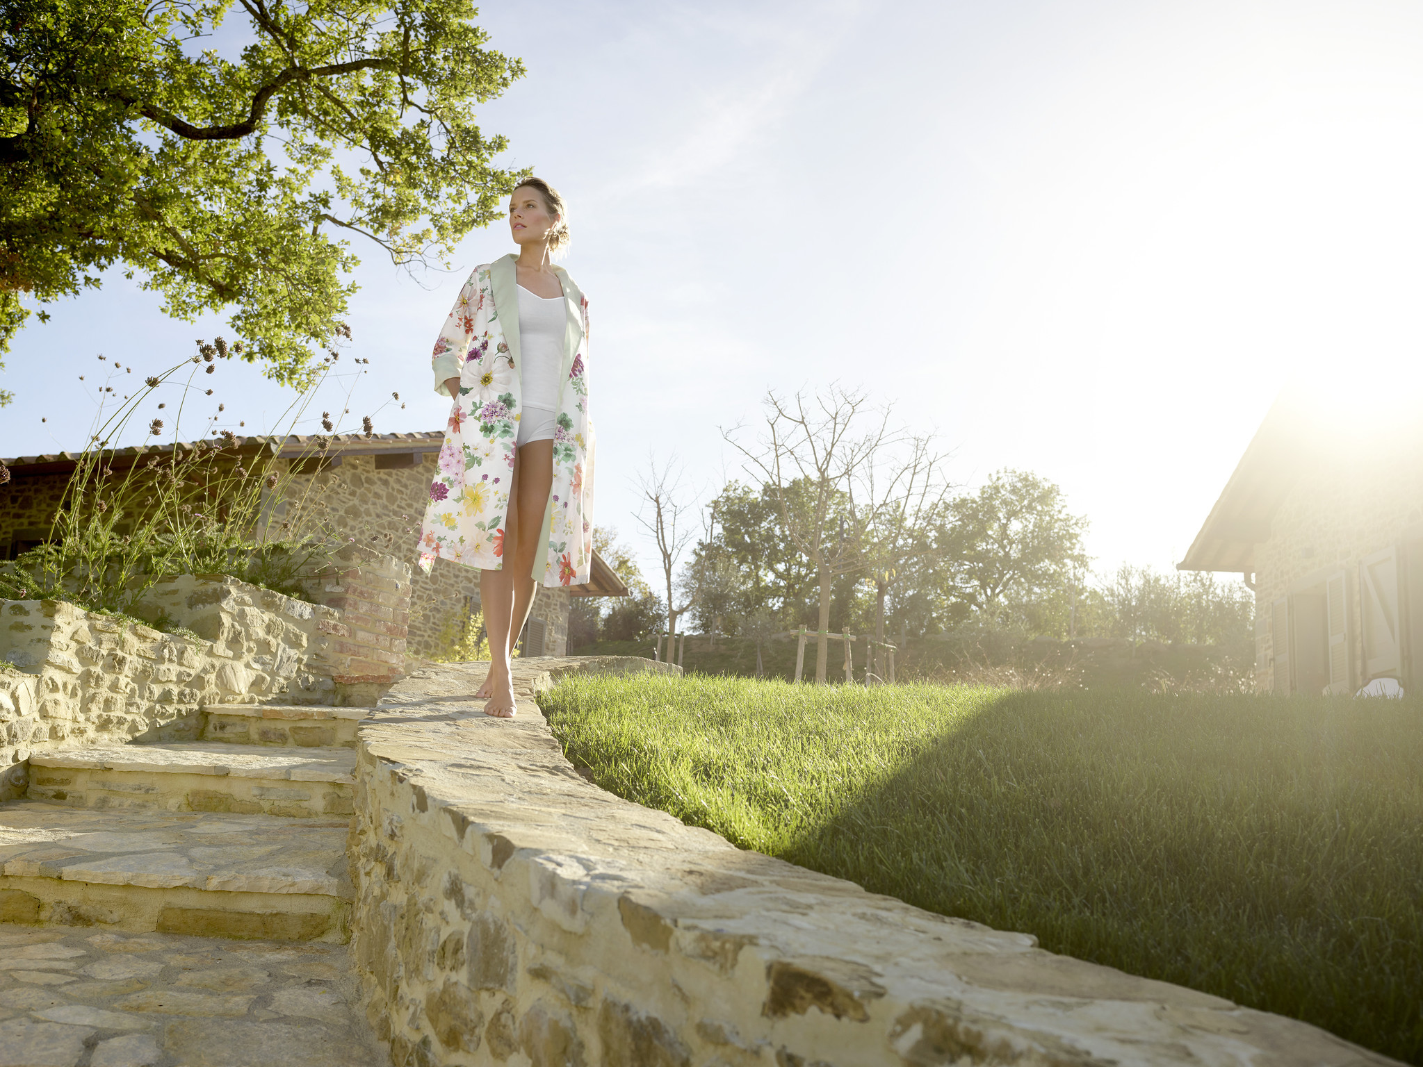
[[[629,666],[659,664],[517,681]],[[423,669],[360,730],[353,957],[397,1067],[1390,1063],[622,801],[532,701],[461,699],[481,673]]]

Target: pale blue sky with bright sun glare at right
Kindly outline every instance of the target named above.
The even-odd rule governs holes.
[[[595,521],[645,573],[638,474],[675,458],[702,501],[744,478],[723,430],[748,440],[767,390],[864,388],[936,432],[965,489],[1054,481],[1099,575],[1185,553],[1282,387],[1353,413],[1423,396],[1416,3],[551,0],[478,21],[528,68],[478,112],[498,162],[569,205]],[[343,360],[351,400],[313,411],[443,428],[430,347],[507,223],[448,272],[353,249],[370,364]],[[50,310],[0,374],[3,457],[83,442],[97,354],[141,376],[232,336],[117,273]],[[292,398],[246,366],[211,384],[246,432]]]

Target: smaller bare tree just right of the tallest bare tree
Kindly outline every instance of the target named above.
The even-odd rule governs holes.
[[[942,477],[948,452],[935,451],[935,438],[912,434],[904,448],[871,455],[865,464],[864,497],[871,522],[861,548],[865,573],[875,583],[874,673],[884,677],[885,596],[906,566],[938,551],[935,521],[942,516],[952,485]],[[867,660],[871,662],[871,660]]]

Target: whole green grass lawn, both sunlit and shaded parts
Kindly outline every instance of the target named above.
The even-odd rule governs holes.
[[[1423,707],[572,677],[606,790],[1423,1064]]]

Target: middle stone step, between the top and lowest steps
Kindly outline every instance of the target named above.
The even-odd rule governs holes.
[[[354,767],[353,748],[94,745],[31,755],[26,795],[71,808],[346,817]]]

